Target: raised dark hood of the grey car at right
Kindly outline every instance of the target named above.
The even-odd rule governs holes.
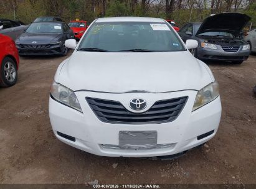
[[[229,32],[239,35],[250,17],[239,12],[225,12],[207,17],[197,30],[196,35],[204,32]]]

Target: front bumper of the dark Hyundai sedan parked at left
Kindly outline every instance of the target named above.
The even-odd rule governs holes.
[[[50,45],[49,48],[37,48],[36,46],[34,48],[24,48],[18,44],[16,44],[16,47],[19,52],[19,55],[60,55],[63,52],[63,45],[61,44]]]

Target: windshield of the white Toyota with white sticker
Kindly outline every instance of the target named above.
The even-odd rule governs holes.
[[[156,22],[95,22],[78,50],[82,48],[100,48],[108,52],[131,49],[153,52],[186,50],[167,24]]]

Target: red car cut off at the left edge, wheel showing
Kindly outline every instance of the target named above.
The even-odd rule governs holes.
[[[12,86],[17,81],[19,54],[11,37],[0,34],[0,86]]]

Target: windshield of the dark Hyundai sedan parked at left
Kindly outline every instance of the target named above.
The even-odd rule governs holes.
[[[62,24],[59,23],[32,23],[27,33],[62,33]]]

